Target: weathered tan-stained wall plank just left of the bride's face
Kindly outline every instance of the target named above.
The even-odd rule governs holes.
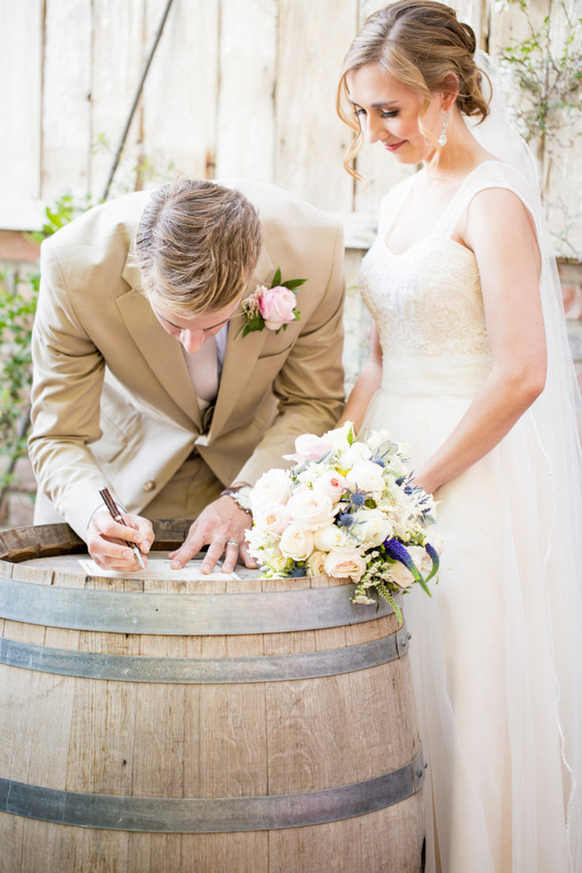
[[[306,27],[306,22],[308,26]],[[280,0],[275,100],[275,183],[323,209],[351,209],[342,167],[348,133],[335,112],[343,47],[355,4]]]

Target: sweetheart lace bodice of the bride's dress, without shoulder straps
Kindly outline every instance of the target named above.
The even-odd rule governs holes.
[[[431,234],[399,255],[379,237],[360,287],[385,358],[489,355],[474,253],[450,237]]]

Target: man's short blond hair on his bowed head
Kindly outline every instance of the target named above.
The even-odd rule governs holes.
[[[240,191],[183,179],[150,197],[140,216],[134,262],[153,307],[195,316],[235,302],[261,244],[259,215]]]

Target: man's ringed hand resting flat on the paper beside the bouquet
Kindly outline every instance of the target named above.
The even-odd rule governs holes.
[[[179,570],[190,558],[195,557],[203,546],[208,546],[203,559],[202,572],[211,573],[217,561],[224,555],[223,573],[232,573],[237,559],[247,567],[257,566],[250,556],[244,532],[252,526],[252,517],[236,506],[230,497],[219,497],[210,503],[196,518],[187,538],[176,551],[170,552],[171,566]]]

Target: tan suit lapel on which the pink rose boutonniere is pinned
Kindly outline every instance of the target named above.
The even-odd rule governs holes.
[[[270,285],[274,275],[275,265],[263,247],[244,296],[250,296],[259,284]],[[209,442],[219,435],[236,402],[243,395],[244,386],[267,340],[267,328],[247,333],[243,337],[243,324],[243,308],[241,307],[228,326],[227,349],[220,376],[219,395],[208,435]]]

